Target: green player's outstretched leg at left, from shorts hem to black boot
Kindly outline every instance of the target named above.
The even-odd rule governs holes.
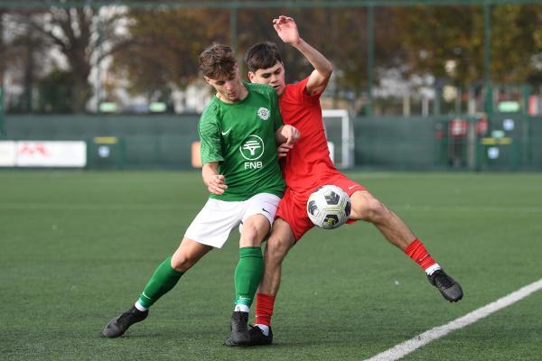
[[[109,321],[102,335],[107,338],[117,338],[122,336],[134,323],[146,319],[149,313],[148,308],[165,293],[171,291],[182,274],[188,271],[193,264],[196,264],[211,249],[210,245],[201,245],[190,238],[184,237],[173,256],[167,258],[156,268],[135,305]]]

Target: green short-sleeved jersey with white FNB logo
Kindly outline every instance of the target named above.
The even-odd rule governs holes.
[[[228,104],[213,97],[201,115],[201,162],[220,162],[228,189],[221,200],[245,200],[257,193],[282,197],[285,181],[277,162],[275,131],[282,125],[275,89],[243,83],[248,96]]]

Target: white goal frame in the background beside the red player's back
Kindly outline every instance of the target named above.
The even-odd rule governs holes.
[[[346,109],[322,110],[323,129],[337,168],[354,166],[354,127]]]

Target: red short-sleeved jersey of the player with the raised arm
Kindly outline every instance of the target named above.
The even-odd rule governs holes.
[[[340,174],[330,158],[323,131],[320,94],[309,96],[304,91],[308,80],[287,84],[279,99],[283,123],[301,132],[301,138],[281,162],[286,186],[296,192],[313,191],[322,180]]]

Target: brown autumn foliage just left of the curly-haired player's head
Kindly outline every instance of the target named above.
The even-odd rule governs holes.
[[[229,14],[210,9],[131,9],[132,39],[115,54],[111,71],[149,100],[199,78],[198,56],[212,42],[229,41]],[[169,90],[168,90],[169,89]]]

